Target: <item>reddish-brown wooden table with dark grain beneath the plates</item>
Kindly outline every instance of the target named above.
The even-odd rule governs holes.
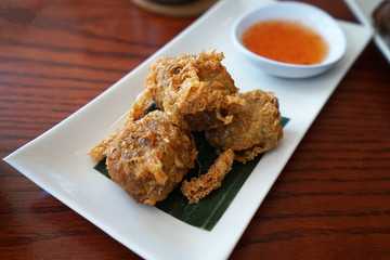
[[[72,115],[195,20],[156,15],[130,0],[17,0],[9,4],[22,8],[8,14],[3,2],[2,158]],[[341,0],[307,2],[355,22]],[[389,113],[390,65],[370,42],[231,259],[390,259]],[[0,259],[140,258],[4,161],[0,212]]]

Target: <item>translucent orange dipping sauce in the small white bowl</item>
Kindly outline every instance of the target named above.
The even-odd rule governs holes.
[[[291,21],[259,22],[244,32],[243,43],[263,57],[300,65],[318,64],[328,52],[317,32]]]

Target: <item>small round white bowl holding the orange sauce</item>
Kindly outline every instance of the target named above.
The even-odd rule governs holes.
[[[251,25],[268,20],[300,22],[311,28],[327,43],[327,56],[320,64],[296,65],[276,62],[249,51],[242,42],[243,34]],[[337,22],[323,10],[302,2],[277,2],[252,10],[234,23],[231,37],[234,47],[255,66],[283,78],[307,78],[322,74],[341,61],[347,50],[346,36]]]

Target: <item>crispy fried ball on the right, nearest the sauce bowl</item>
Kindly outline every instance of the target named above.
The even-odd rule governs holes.
[[[233,150],[240,162],[277,145],[283,138],[278,101],[272,92],[261,90],[240,93],[245,105],[236,107],[232,123],[206,132],[211,146]]]

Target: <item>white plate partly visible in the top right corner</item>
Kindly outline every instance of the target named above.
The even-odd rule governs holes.
[[[374,28],[373,12],[384,0],[344,0],[356,18],[364,25]],[[390,47],[382,35],[375,32],[374,41],[390,63]]]

